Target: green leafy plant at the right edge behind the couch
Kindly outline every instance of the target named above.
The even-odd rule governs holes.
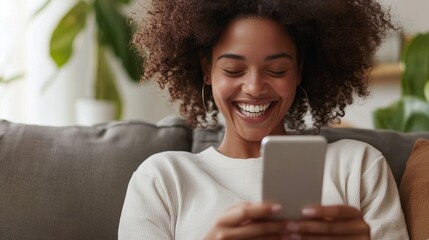
[[[429,32],[418,34],[401,55],[402,96],[374,112],[376,128],[402,132],[429,131]]]

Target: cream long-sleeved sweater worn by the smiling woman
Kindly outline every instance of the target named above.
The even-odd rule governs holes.
[[[261,200],[261,177],[260,158],[229,158],[214,148],[155,154],[130,180],[119,239],[200,240],[226,208]],[[368,144],[329,144],[322,205],[333,204],[360,209],[372,239],[408,239],[390,169]]]

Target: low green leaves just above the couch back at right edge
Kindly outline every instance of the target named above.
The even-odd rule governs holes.
[[[376,128],[401,132],[429,130],[429,102],[416,97],[403,97],[386,108],[374,112]]]

